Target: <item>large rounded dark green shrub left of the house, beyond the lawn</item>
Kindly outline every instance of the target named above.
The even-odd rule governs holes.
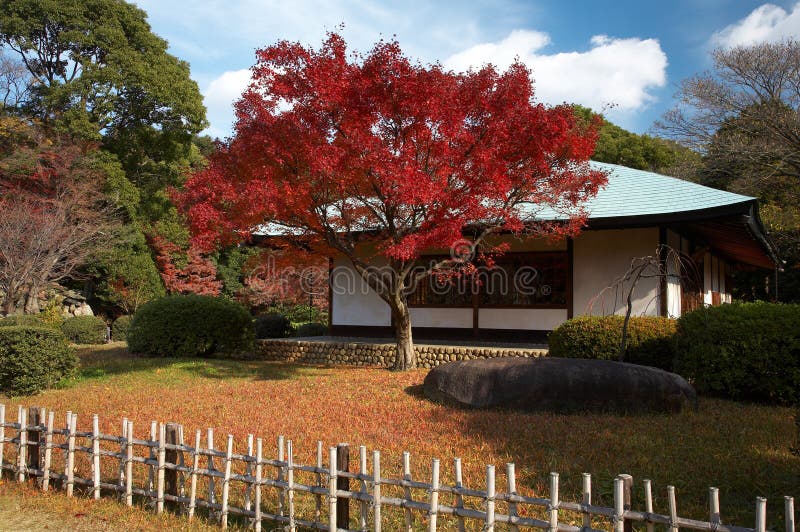
[[[128,349],[149,356],[209,356],[253,349],[253,320],[229,299],[174,295],[146,303],[128,328]]]

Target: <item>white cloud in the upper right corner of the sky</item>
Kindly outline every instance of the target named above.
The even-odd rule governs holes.
[[[714,33],[711,43],[723,48],[775,42],[800,36],[800,2],[790,12],[764,4],[745,18]]]

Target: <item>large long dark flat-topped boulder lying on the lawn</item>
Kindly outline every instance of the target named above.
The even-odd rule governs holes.
[[[435,401],[524,410],[677,412],[697,395],[664,370],[576,358],[496,358],[451,362],[425,377]]]

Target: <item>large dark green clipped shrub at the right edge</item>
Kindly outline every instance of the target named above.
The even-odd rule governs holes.
[[[800,305],[734,303],[678,320],[677,371],[700,393],[778,404],[800,400]]]

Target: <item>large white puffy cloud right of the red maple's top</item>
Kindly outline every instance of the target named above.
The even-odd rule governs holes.
[[[667,56],[656,39],[596,35],[585,52],[555,54],[543,52],[549,43],[546,33],[514,30],[499,42],[452,55],[445,66],[463,71],[492,63],[505,69],[518,57],[533,71],[537,100],[595,110],[608,105],[623,112],[641,109],[654,100],[650,91],[666,84]]]

